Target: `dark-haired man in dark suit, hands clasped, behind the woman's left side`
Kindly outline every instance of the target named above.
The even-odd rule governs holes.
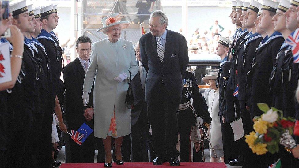
[[[81,36],[76,41],[76,47],[79,57],[66,65],[64,73],[66,121],[69,130],[74,131],[77,131],[83,123],[93,129],[93,102],[85,107],[81,101],[85,72],[90,60],[91,40],[87,36]],[[89,96],[93,99],[93,91]],[[70,138],[71,162],[93,163],[94,141],[93,133],[81,146]]]

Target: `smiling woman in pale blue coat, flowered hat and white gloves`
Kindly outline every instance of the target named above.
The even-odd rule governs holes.
[[[126,93],[131,79],[138,73],[138,65],[131,41],[120,39],[121,30],[128,21],[120,21],[118,13],[102,19],[103,28],[98,30],[107,38],[92,46],[90,65],[86,71],[83,86],[83,103],[88,103],[94,81],[94,136],[102,138],[106,160],[111,163],[111,137],[115,138],[117,163],[122,164],[121,143],[123,136],[131,133],[130,110],[125,105]]]

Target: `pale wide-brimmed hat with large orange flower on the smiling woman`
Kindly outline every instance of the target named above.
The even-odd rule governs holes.
[[[120,21],[121,18],[122,17],[118,13],[113,13],[107,17],[104,17],[103,19],[101,19],[103,27],[98,29],[97,32],[102,32],[105,28],[108,28],[110,26],[114,26],[117,24],[120,24],[122,29],[127,28],[130,25],[130,22],[129,21]]]

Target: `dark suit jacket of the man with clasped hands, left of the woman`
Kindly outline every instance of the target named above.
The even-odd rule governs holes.
[[[63,75],[66,88],[66,121],[68,128],[76,131],[84,122],[93,129],[93,120],[87,121],[83,116],[85,109],[93,107],[93,88],[89,93],[88,105],[85,107],[82,102],[84,77],[85,71],[79,58],[66,65]]]

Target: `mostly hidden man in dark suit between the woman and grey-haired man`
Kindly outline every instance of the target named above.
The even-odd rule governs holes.
[[[146,70],[140,61],[139,42],[135,45],[135,54],[138,61],[139,72],[131,80],[132,92],[134,96],[135,107],[131,110],[131,138],[133,162],[148,162],[147,142],[149,144],[150,159],[153,161],[153,152],[149,133],[149,122],[147,114],[147,103],[145,102],[145,81]]]

